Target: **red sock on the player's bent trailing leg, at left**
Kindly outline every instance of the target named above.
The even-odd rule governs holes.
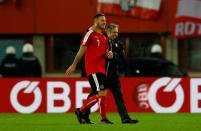
[[[85,110],[91,108],[96,102],[98,101],[98,97],[96,95],[93,95],[89,99],[87,99],[86,102],[84,102],[83,106],[80,107],[80,111],[84,112]]]

